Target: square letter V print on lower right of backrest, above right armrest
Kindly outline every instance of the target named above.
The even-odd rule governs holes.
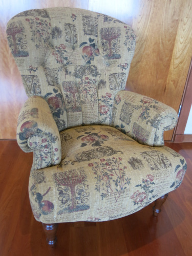
[[[123,90],[126,84],[126,73],[113,73],[109,75],[110,89],[113,91]]]

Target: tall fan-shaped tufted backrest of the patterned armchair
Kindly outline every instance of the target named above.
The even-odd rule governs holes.
[[[14,16],[7,36],[27,95],[46,99],[59,131],[111,124],[135,50],[128,25],[88,10],[35,9]]]

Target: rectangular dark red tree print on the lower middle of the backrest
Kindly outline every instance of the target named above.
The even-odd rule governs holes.
[[[62,82],[67,112],[81,112],[81,103],[78,88],[73,81]]]

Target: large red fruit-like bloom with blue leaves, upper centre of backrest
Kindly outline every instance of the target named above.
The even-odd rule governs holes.
[[[99,49],[97,48],[95,39],[89,38],[88,42],[81,42],[79,48],[82,48],[82,58],[84,59],[86,65],[91,64],[91,60],[94,60],[95,56],[98,56]]]

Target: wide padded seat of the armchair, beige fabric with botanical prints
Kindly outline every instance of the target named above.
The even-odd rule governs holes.
[[[177,188],[186,162],[172,149],[141,145],[106,125],[60,133],[59,165],[31,170],[37,221],[107,221],[133,214]]]

